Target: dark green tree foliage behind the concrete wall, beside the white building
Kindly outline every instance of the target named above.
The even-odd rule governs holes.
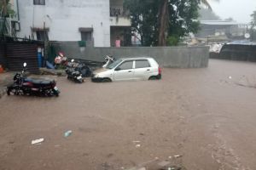
[[[168,42],[176,43],[175,38],[198,31],[200,3],[201,0],[125,0],[125,8],[130,11],[132,31],[140,34],[142,45],[156,46],[160,44],[160,33]]]

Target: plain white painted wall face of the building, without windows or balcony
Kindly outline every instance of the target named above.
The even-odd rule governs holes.
[[[50,41],[80,41],[79,27],[93,27],[94,45],[110,46],[108,0],[45,0],[45,5],[19,0],[18,3],[21,28],[18,37],[31,37],[31,28],[44,28],[45,23]]]

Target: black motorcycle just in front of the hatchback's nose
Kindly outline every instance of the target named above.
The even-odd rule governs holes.
[[[73,80],[74,82],[84,82],[84,77],[90,77],[91,72],[88,65],[81,62],[74,62],[74,59],[67,63],[67,79]]]

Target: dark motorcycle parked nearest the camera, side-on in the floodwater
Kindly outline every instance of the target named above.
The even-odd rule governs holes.
[[[14,83],[7,88],[8,95],[38,95],[38,96],[56,96],[60,94],[54,80],[26,78],[26,63],[23,64],[21,73],[16,73]]]

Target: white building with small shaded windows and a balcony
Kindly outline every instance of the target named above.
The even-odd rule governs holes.
[[[20,31],[17,37],[49,41],[86,41],[87,46],[114,46],[131,41],[131,20],[123,0],[13,0]],[[130,37],[129,37],[130,36]]]

